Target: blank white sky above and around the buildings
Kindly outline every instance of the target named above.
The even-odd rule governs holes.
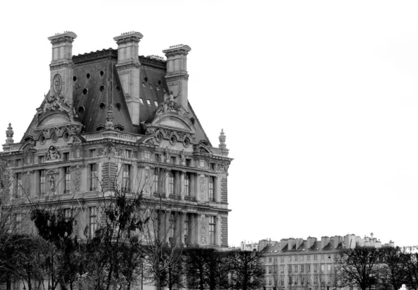
[[[417,15],[417,1],[7,1],[0,128],[22,138],[56,32],[78,35],[73,54],[125,31],[145,56],[183,43],[189,101],[235,159],[231,245],[371,232],[417,245]]]

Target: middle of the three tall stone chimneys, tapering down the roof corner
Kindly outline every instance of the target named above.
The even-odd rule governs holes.
[[[114,38],[118,44],[116,69],[132,124],[139,124],[139,83],[141,83],[139,68],[141,63],[139,63],[138,48],[139,41],[143,37],[139,32],[130,31]]]

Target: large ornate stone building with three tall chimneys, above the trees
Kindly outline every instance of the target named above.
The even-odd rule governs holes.
[[[98,200],[119,180],[145,200],[180,205],[181,243],[227,248],[232,159],[224,132],[214,147],[189,103],[190,47],[164,49],[166,58],[139,56],[143,35],[129,32],[114,38],[117,49],[72,56],[75,38],[68,31],[48,38],[49,92],[19,143],[9,124],[3,194],[22,204],[79,207],[83,236],[98,223]],[[31,227],[25,214],[15,220]]]

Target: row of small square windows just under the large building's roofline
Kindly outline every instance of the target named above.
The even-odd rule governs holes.
[[[97,157],[96,151],[97,150],[95,150],[95,149],[88,150],[88,156],[90,158]],[[79,152],[76,152],[76,153],[79,154]],[[123,150],[123,156],[125,158],[132,158],[132,150],[127,150],[127,149]],[[150,159],[150,152],[144,152],[144,156],[145,156],[145,159]],[[161,159],[162,159],[162,156],[163,155],[160,154],[160,153],[155,153],[154,154],[154,161],[155,162],[160,162]],[[77,156],[77,157],[79,157],[79,156]],[[32,158],[31,156],[26,157],[25,163],[30,164],[31,163],[31,158]],[[69,161],[70,160],[70,152],[63,152],[62,159],[63,159],[63,161]],[[180,165],[179,159],[178,159],[177,156],[170,156],[169,161],[173,165]],[[196,161],[196,162],[198,162],[198,161]],[[44,155],[38,156],[38,164],[42,164],[42,163],[45,163],[45,156]],[[15,167],[20,167],[22,165],[23,165],[23,159],[15,159]],[[186,158],[185,159],[185,166],[192,167],[193,166],[192,165],[192,159]],[[199,167],[206,168],[206,161],[199,160]],[[208,163],[208,168],[210,170],[215,170],[216,163]]]

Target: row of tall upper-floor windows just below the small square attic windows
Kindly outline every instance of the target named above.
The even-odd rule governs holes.
[[[124,191],[131,191],[132,184],[132,166],[130,164],[123,164],[122,170],[122,187]],[[71,168],[70,166],[63,168],[63,192],[70,193],[72,187],[71,180]],[[183,194],[186,197],[190,197],[191,193],[196,192],[197,175],[194,173],[186,172],[184,174],[183,190],[180,188],[180,172],[176,170],[170,170],[168,173],[168,188],[165,190],[165,176],[164,172],[160,169],[155,169],[153,172],[153,193],[167,192],[169,195]],[[208,198],[210,201],[216,200],[216,177],[208,177]],[[194,184],[192,184],[194,183]],[[22,172],[15,173],[15,195],[22,197]],[[46,193],[54,193],[56,191],[57,180],[54,175],[47,177],[46,170],[38,170],[38,192],[39,195],[45,195]],[[88,191],[98,190],[98,165],[91,163],[88,165]]]

